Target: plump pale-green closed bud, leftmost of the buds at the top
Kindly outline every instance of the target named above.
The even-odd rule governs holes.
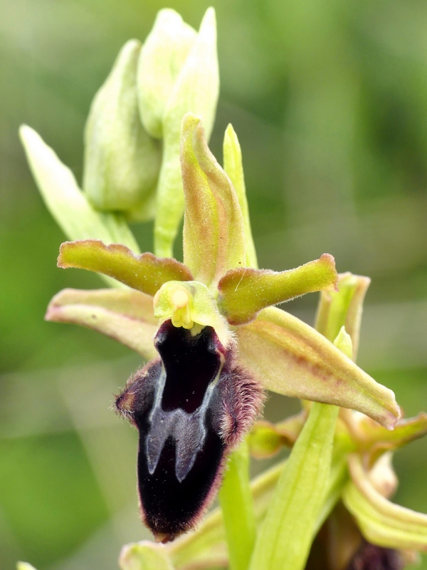
[[[95,208],[142,220],[154,214],[161,150],[139,119],[140,49],[137,40],[125,43],[95,95],[85,128],[83,190]]]

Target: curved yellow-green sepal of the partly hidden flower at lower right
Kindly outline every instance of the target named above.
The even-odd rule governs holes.
[[[427,551],[427,515],[382,497],[362,466],[362,457],[349,456],[352,481],[342,494],[345,506],[357,520],[367,541],[393,549]]]

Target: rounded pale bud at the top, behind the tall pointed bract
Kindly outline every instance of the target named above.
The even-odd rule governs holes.
[[[196,30],[174,10],[157,13],[139,56],[139,114],[152,137],[163,137],[163,118],[176,78],[196,40]]]

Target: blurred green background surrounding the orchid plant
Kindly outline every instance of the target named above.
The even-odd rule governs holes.
[[[109,410],[139,366],[97,333],[45,323],[51,296],[100,286],[56,268],[64,236],[17,130],[38,130],[80,180],[90,101],[128,38],[169,6],[198,27],[203,0],[0,2],[0,570],[113,570],[147,537],[135,433]],[[427,408],[427,4],[425,0],[219,0],[221,98],[211,147],[243,147],[260,266],[334,254],[369,275],[359,363]],[[135,227],[142,250],[152,225]],[[317,296],[287,309],[312,323]],[[278,420],[296,409],[271,399]],[[396,501],[427,512],[427,442],[396,454]],[[261,466],[262,467],[262,466]],[[257,465],[260,468],[260,465]],[[427,561],[423,568],[427,569]]]

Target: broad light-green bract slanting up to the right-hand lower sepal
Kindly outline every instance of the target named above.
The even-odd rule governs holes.
[[[337,406],[314,403],[260,527],[250,570],[302,570],[330,475]]]

